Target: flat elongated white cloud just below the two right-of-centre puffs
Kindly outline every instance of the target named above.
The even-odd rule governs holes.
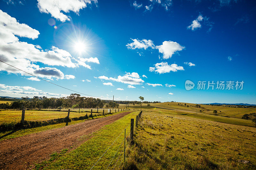
[[[159,74],[170,73],[170,71],[176,72],[177,70],[184,70],[184,68],[177,64],[168,65],[167,62],[156,63],[155,67],[149,67],[150,72],[155,71]]]

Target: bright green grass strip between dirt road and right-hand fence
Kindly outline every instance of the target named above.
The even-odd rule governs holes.
[[[104,126],[100,131],[91,134],[93,137],[80,145],[75,150],[67,153],[53,153],[51,159],[36,165],[36,169],[90,169],[100,156],[107,150],[107,148],[115,141],[124,128],[128,126],[126,136],[129,136],[130,119],[136,118],[137,112],[132,112],[123,118],[115,121],[112,124]],[[84,136],[82,138],[87,138]],[[109,148],[100,161],[93,167],[93,169],[113,169],[123,162],[122,155],[124,146],[124,133],[117,138],[116,142]],[[120,145],[122,144],[122,145]],[[121,147],[119,147],[121,146]],[[69,149],[69,148],[68,148]],[[116,154],[116,155],[115,155]],[[119,155],[121,154],[121,158]],[[119,160],[118,160],[119,157]],[[114,159],[113,159],[114,158]],[[112,163],[111,160],[113,159]],[[118,161],[117,161],[118,160]]]

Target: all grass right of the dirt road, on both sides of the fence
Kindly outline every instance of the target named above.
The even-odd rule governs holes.
[[[37,164],[36,169],[90,169],[120,133],[121,137],[93,169],[113,169],[115,166],[116,169],[159,170],[256,167],[255,128],[155,111],[143,112],[139,128],[135,130],[134,144],[126,147],[124,164],[123,148],[119,146],[124,139],[124,128],[128,126],[126,136],[129,136],[130,118],[137,114],[133,112],[104,126],[75,150],[66,148],[52,153],[51,158]]]

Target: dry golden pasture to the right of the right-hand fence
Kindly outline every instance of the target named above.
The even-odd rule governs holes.
[[[148,112],[124,169],[255,169],[256,129]]]

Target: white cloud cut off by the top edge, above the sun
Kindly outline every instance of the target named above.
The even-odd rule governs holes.
[[[68,13],[70,11],[79,14],[80,9],[85,8],[88,4],[97,0],[37,0],[37,7],[40,12],[51,14],[52,17],[59,19],[61,22],[70,20],[70,18],[61,11]]]

